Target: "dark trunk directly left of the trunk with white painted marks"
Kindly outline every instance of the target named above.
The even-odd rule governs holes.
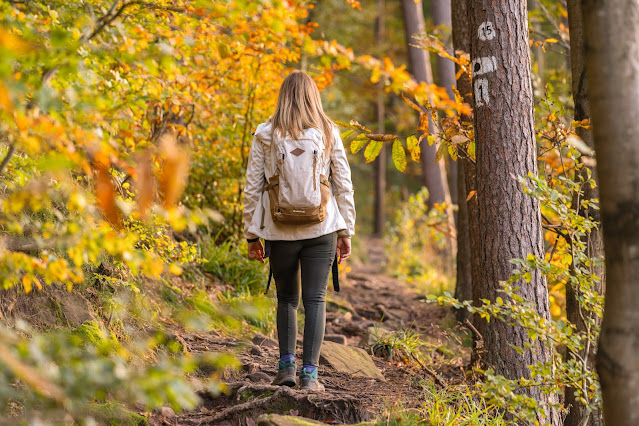
[[[455,51],[470,53],[470,23],[468,21],[468,0],[453,0],[451,4],[453,29],[453,47]],[[453,71],[454,72],[454,71]],[[461,74],[457,80],[457,90],[464,97],[464,102],[473,104],[470,78]],[[462,117],[468,122],[472,117]],[[455,297],[459,300],[475,300],[473,297],[473,282],[479,282],[479,228],[477,213],[477,197],[466,200],[471,191],[477,189],[475,178],[475,164],[460,155],[457,168],[457,193],[459,211],[457,213],[457,285]],[[477,276],[475,276],[477,275]],[[479,302],[480,294],[477,294]],[[457,313],[457,319],[462,321],[470,318],[466,310]],[[478,324],[475,324],[477,328]],[[478,336],[474,335],[475,343]],[[477,345],[475,344],[476,348]]]

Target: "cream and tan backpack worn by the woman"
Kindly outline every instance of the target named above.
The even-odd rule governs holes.
[[[326,219],[331,196],[324,168],[324,142],[321,132],[307,129],[299,139],[273,134],[271,158],[274,176],[268,179],[271,216],[274,223],[307,225]]]

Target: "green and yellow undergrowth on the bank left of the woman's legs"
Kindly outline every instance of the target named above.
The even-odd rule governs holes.
[[[206,257],[181,265],[179,277],[139,279],[108,259],[88,270],[87,283],[73,293],[86,301],[90,320],[52,330],[43,321],[15,318],[12,328],[0,327],[0,404],[11,407],[7,420],[28,423],[55,411],[81,424],[98,415],[99,424],[145,424],[134,413],[123,421],[123,411],[113,407],[179,412],[198,405],[197,390],[219,394],[223,372],[238,361],[189,353],[184,336],[271,335],[275,303],[273,290],[264,294],[268,267],[248,260],[246,243],[212,241],[199,244]],[[62,316],[60,324],[70,324],[59,306],[51,310]]]

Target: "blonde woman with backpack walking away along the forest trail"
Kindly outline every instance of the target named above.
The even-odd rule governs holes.
[[[306,320],[299,384],[303,390],[323,391],[317,367],[328,275],[336,255],[338,263],[350,256],[355,203],[339,130],[324,113],[315,82],[301,71],[286,77],[273,116],[257,127],[244,194],[249,257],[264,262],[270,256],[277,288],[280,360],[273,384],[297,384],[301,287]]]

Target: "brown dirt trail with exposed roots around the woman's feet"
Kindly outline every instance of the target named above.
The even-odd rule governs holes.
[[[463,381],[469,350],[461,344],[464,332],[455,328],[453,313],[427,303],[424,295],[385,275],[380,240],[369,239],[365,245],[366,262],[353,264],[347,277],[340,277],[341,292],[329,289],[327,336],[352,348],[362,347],[369,354],[375,352],[371,359],[381,376],[371,378],[357,371],[353,374],[339,371],[323,356],[319,372],[325,392],[272,386],[278,360],[275,340],[261,335],[247,341],[215,332],[187,334],[182,338],[188,351],[235,353],[242,368],[223,376],[228,384],[227,394],[213,396],[202,392],[203,403],[198,409],[177,415],[172,410],[163,410],[154,414],[150,423],[244,426],[255,425],[264,413],[276,413],[328,424],[353,424],[377,419],[394,407],[420,407],[425,402],[425,381],[436,388]],[[380,339],[383,330],[395,331],[394,336],[410,330],[419,337],[423,356],[420,360],[407,355],[398,357],[396,348],[390,359],[387,349],[393,346],[392,339]],[[375,345],[381,340],[386,346]]]

